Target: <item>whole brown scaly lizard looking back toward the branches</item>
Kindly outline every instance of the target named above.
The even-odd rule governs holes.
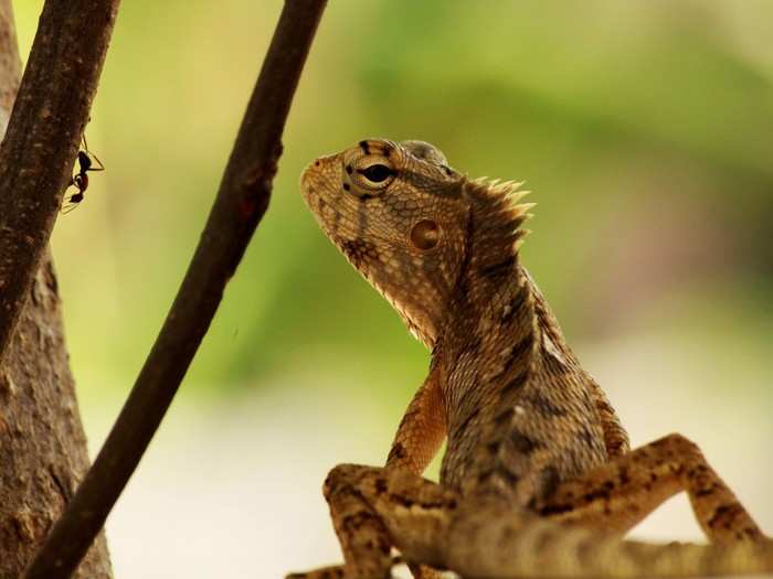
[[[325,483],[345,565],[292,577],[386,578],[392,547],[423,578],[773,572],[773,544],[698,447],[670,435],[629,450],[520,264],[518,186],[470,181],[421,141],[361,141],[304,172],[322,230],[432,364],[386,467]],[[420,474],[446,437],[435,484]],[[712,545],[623,539],[680,491]]]

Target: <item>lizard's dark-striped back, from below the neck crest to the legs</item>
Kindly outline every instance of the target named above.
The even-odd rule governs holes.
[[[435,349],[448,436],[441,481],[528,505],[607,453],[592,380],[512,257],[487,276],[467,271]]]

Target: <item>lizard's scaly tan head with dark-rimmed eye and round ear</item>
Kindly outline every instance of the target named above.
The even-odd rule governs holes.
[[[499,237],[508,255],[516,251],[512,184],[469,181],[423,141],[360,141],[314,161],[300,185],[325,234],[430,347],[470,259],[485,261],[488,249],[476,257],[474,248],[500,240],[495,224],[504,221]],[[476,243],[478,218],[489,223],[477,227]]]

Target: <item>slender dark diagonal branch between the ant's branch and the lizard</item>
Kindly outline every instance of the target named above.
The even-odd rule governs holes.
[[[286,1],[174,303],[105,446],[28,569],[28,579],[72,572],[163,418],[268,206],[282,131],[325,3]]]

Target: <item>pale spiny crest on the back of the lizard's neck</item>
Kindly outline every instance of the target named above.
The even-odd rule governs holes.
[[[509,275],[517,264],[523,238],[530,233],[523,223],[534,203],[521,203],[530,191],[520,191],[522,182],[480,178],[465,183],[465,193],[472,201],[472,255],[469,267],[481,278]]]

